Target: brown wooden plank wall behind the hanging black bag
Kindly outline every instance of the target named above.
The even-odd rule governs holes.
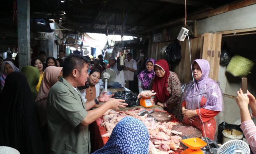
[[[171,42],[161,42],[161,43],[152,43],[151,45],[151,53],[148,53],[148,58],[165,59],[165,56],[161,55],[161,48],[168,46]],[[200,58],[200,50],[201,50],[201,37],[191,38],[190,39],[190,48],[191,48],[191,58],[192,61]],[[181,62],[177,65],[172,65],[170,70],[177,73],[181,83],[186,83],[192,79],[191,74],[191,66],[190,66],[190,57],[189,57],[189,45],[188,40],[185,39],[184,42],[180,41],[181,45]]]

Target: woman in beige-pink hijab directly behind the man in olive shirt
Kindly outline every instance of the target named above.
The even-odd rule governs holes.
[[[59,77],[62,76],[62,68],[63,67],[49,66],[44,70],[42,83],[37,98],[35,99],[41,127],[45,126],[47,123],[46,103],[49,90],[59,80]]]

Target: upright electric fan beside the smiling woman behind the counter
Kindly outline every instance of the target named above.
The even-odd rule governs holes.
[[[101,73],[101,79],[105,83],[105,91],[107,91],[107,86],[112,85],[117,78],[117,73],[112,68],[107,68]]]

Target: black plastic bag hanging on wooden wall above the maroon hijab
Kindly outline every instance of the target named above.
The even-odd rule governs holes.
[[[179,64],[181,61],[181,45],[179,41],[175,39],[168,45],[165,51],[166,61],[170,64]]]

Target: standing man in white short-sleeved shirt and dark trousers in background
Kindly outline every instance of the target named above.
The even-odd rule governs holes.
[[[126,54],[126,59],[124,60],[124,79],[125,87],[133,91],[134,87],[134,73],[137,71],[137,63],[132,59],[132,53],[128,52]],[[138,83],[137,83],[138,84]]]

